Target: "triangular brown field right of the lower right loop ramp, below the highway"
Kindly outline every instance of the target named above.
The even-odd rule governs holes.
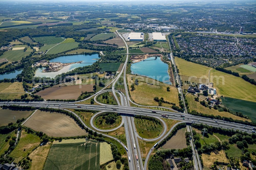
[[[186,128],[179,129],[174,136],[172,136],[166,143],[162,146],[163,149],[183,149],[187,147]]]

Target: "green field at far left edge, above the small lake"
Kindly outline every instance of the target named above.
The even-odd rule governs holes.
[[[30,51],[24,52],[24,50],[12,50],[6,51],[0,58],[6,58],[8,61],[19,61],[22,57],[26,57],[30,54]]]

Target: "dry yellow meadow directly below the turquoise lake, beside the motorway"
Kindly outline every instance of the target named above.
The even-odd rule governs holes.
[[[134,83],[135,79],[138,79],[138,85],[135,85],[135,90],[131,91],[131,84]],[[165,101],[176,103],[176,105],[179,103],[178,90],[173,86],[136,75],[127,75],[127,82],[131,98],[136,103],[156,106],[158,103],[154,101],[154,97],[163,97]],[[170,88],[170,91],[166,90],[167,87]],[[172,105],[163,103],[163,106]]]

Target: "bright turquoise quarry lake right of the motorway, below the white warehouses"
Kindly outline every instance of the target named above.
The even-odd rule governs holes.
[[[159,57],[157,57],[156,60],[154,59],[155,57],[149,57],[145,59],[146,61],[133,63],[131,65],[132,74],[147,76],[149,78],[164,82],[166,84],[172,84],[170,82],[170,76],[168,74],[168,64],[162,62]]]

